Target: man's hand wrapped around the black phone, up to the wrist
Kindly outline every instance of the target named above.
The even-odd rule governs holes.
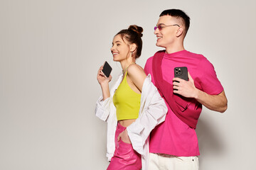
[[[196,89],[194,81],[189,72],[188,81],[175,77],[173,79],[173,86],[174,94],[179,94],[186,98],[196,98],[198,96],[198,89]]]

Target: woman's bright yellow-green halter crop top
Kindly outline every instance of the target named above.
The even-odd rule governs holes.
[[[113,103],[117,108],[117,120],[137,119],[141,96],[133,91],[127,83],[126,73],[113,96]]]

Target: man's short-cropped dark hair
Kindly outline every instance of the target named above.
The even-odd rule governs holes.
[[[161,12],[160,16],[174,16],[176,18],[181,18],[185,25],[185,35],[188,32],[190,18],[184,11],[181,11],[180,9],[166,9]]]

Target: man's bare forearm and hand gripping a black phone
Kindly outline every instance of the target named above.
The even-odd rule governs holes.
[[[187,98],[196,98],[199,103],[212,111],[224,113],[227,110],[228,100],[224,91],[217,95],[206,94],[206,92],[196,89],[194,81],[189,72],[188,79],[188,81],[179,78],[173,79],[174,94],[180,94],[181,96]]]

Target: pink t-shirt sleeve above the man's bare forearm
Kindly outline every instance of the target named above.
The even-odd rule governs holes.
[[[201,68],[198,69],[198,71],[201,71],[198,72],[198,75],[202,90],[210,95],[220,94],[223,91],[223,86],[217,78],[213,64],[211,64],[206,57],[203,57],[198,67]]]

